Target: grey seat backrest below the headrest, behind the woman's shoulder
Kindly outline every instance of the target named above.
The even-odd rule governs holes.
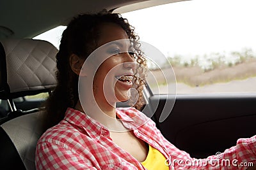
[[[1,128],[3,128],[8,135],[6,138],[11,139],[26,169],[35,169],[36,143],[44,132],[43,122],[41,121],[43,116],[44,111],[37,111],[13,118],[1,125]],[[6,164],[6,167],[10,168],[10,166],[16,166],[15,164],[12,165],[12,162],[14,163],[12,157],[8,157],[8,159],[10,160],[5,161],[5,164],[9,162]],[[17,168],[20,169],[20,167]]]

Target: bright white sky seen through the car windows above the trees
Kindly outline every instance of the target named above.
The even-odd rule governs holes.
[[[193,0],[124,13],[141,41],[164,55],[193,58],[205,53],[256,51],[255,0]],[[58,46],[58,27],[35,37]],[[52,36],[54,35],[54,36]]]

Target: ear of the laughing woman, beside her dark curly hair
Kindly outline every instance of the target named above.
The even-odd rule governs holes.
[[[83,69],[84,59],[81,59],[76,54],[72,53],[69,58],[69,64],[74,73],[78,76],[86,76],[86,73]]]

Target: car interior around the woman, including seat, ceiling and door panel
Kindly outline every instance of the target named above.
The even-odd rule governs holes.
[[[35,169],[36,142],[44,132],[45,99],[26,99],[49,93],[56,86],[58,49],[32,39],[79,13],[106,9],[120,13],[168,1],[12,1],[0,2],[0,162],[1,169]],[[138,5],[137,3],[140,3]],[[130,5],[129,8],[126,7]],[[154,94],[147,85],[147,103],[141,109],[152,115],[164,137],[191,157],[206,158],[236,145],[239,138],[255,135],[256,94]],[[159,121],[166,104],[175,103]],[[118,106],[125,106],[119,103]]]

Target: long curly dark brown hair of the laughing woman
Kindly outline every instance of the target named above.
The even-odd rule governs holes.
[[[57,86],[45,103],[47,127],[58,124],[65,115],[67,108],[74,108],[78,99],[78,79],[69,63],[70,55],[76,54],[86,59],[97,48],[99,30],[102,23],[110,22],[120,25],[127,33],[135,50],[134,57],[138,62],[133,87],[138,90],[138,100],[134,108],[143,106],[143,86],[145,85],[145,57],[140,50],[139,37],[127,19],[116,13],[83,14],[74,17],[62,34],[57,59]]]

